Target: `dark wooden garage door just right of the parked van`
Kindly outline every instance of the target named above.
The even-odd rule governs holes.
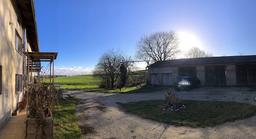
[[[225,86],[226,73],[225,65],[205,66],[206,86]]]

